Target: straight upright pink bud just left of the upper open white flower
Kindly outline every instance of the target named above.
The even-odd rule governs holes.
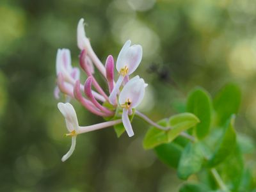
[[[107,60],[106,60],[106,75],[107,75],[107,80],[108,80],[108,88],[109,88],[109,93],[113,91],[114,88],[114,58],[113,56],[109,55]]]

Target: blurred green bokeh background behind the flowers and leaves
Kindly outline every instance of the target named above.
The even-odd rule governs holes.
[[[236,129],[255,138],[255,0],[1,0],[0,191],[165,192],[183,182],[143,150],[148,125],[138,118],[134,137],[118,139],[111,128],[83,134],[61,162],[70,138],[53,97],[56,51],[70,49],[78,66],[81,17],[103,62],[127,39],[143,46],[135,74],[149,84],[140,110],[153,120],[184,111],[197,85],[214,96],[233,82],[243,93]],[[79,124],[103,121],[72,104]]]

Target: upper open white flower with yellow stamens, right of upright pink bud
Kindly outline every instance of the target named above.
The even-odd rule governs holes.
[[[142,58],[142,47],[141,45],[132,45],[131,40],[127,40],[121,51],[118,54],[118,58],[116,60],[116,70],[119,73],[118,80],[116,81],[116,85],[113,88],[113,91],[109,95],[109,102],[115,105],[116,103],[116,95],[119,91],[119,88],[127,76],[131,75],[134,70],[140,65],[140,61]]]

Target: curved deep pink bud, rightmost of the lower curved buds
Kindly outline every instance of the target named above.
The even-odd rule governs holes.
[[[101,111],[103,111],[104,113],[107,113],[108,115],[114,115],[113,111],[110,111],[109,109],[104,108],[102,105],[99,104],[99,102],[97,102],[97,100],[95,99],[95,97],[93,96],[93,93],[92,93],[92,83],[93,83],[93,77],[88,77],[84,83],[84,93],[86,94],[86,96]]]

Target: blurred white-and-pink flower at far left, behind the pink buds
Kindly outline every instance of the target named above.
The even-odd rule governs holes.
[[[61,85],[65,88],[72,88],[74,83],[80,77],[80,70],[77,67],[72,67],[71,56],[68,49],[58,49],[56,56],[56,74],[61,76]],[[58,82],[60,79],[58,79]],[[60,88],[57,86],[54,90],[56,99],[60,98]]]

